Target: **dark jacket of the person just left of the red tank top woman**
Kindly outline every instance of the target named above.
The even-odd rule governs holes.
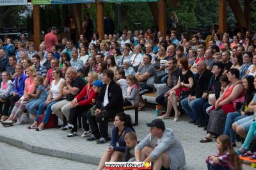
[[[221,88],[221,82],[220,82],[220,77],[222,74],[219,74],[216,79],[215,76],[212,75],[211,79],[210,79],[210,83],[207,87],[207,89],[204,91],[204,93],[215,93],[215,98],[216,100],[220,97],[220,88]],[[211,87],[212,84],[214,84],[214,91],[212,91]]]

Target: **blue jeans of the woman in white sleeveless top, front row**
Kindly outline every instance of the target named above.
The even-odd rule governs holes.
[[[43,102],[42,104],[39,105],[39,108],[38,108],[38,111],[36,112],[36,119],[35,121],[38,122],[38,116],[40,116],[41,114],[44,114],[44,119],[42,120],[42,123],[47,123],[51,114],[52,114],[52,105],[53,104],[56,104],[57,102],[60,102],[60,100],[57,100],[57,101],[54,101],[54,102],[51,102],[50,104],[47,105],[46,109],[45,109],[45,112],[44,112],[44,105],[45,105],[45,102]]]

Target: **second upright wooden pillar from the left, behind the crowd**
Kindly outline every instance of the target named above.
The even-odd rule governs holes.
[[[104,19],[103,19],[103,4],[97,2],[97,32],[99,33],[100,39],[104,37]]]

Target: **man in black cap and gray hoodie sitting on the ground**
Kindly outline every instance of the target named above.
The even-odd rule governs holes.
[[[176,170],[186,165],[185,153],[173,130],[165,128],[163,120],[156,119],[147,123],[150,134],[135,148],[136,162],[153,162],[154,169]]]

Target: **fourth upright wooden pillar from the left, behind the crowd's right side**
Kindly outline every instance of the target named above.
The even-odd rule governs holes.
[[[219,31],[227,31],[227,0],[219,0]]]

